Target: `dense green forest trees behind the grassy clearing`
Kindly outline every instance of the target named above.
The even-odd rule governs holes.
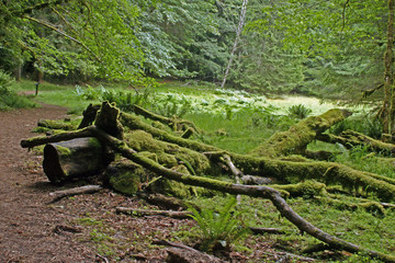
[[[0,68],[70,83],[219,84],[232,56],[227,84],[264,94],[347,99],[381,82],[385,1],[245,2],[237,37],[241,0],[2,1]]]

